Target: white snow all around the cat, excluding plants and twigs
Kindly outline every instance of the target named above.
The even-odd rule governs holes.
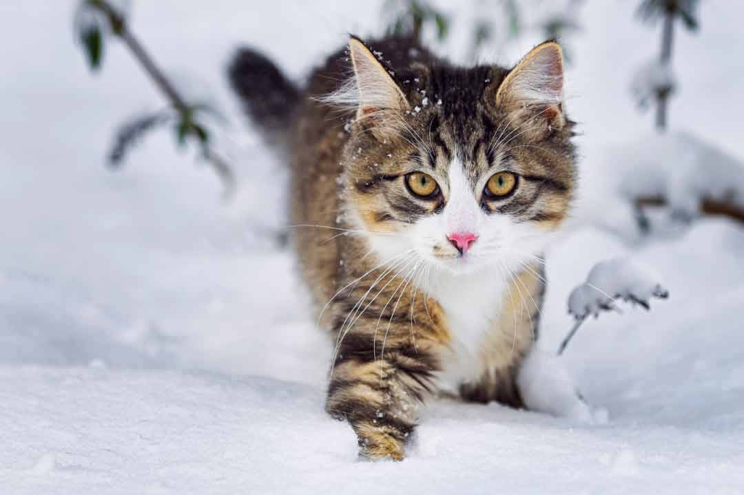
[[[228,204],[165,132],[106,170],[115,123],[160,108],[158,94],[115,44],[88,73],[73,1],[0,4],[0,493],[744,493],[744,229],[724,219],[652,242],[577,221],[550,253],[551,352],[572,324],[571,288],[600,259],[631,256],[670,291],[651,312],[588,320],[562,356],[606,424],[440,402],[404,462],[356,462],[350,428],[322,411],[330,347],[292,256],[256,234],[283,223],[286,176],[221,71],[248,42],[301,77],[347,31],[379,32],[380,7],[254,3],[135,1],[132,14],[155,58],[197,74],[231,118],[222,145],[240,188]],[[629,80],[658,32],[633,3],[588,2],[573,39],[579,220],[610,206],[609,150],[651,126]],[[701,33],[677,37],[670,112],[739,161],[743,14],[705,2]]]

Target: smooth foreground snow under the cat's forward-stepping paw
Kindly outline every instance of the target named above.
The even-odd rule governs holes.
[[[0,451],[12,494],[490,493],[495,483],[518,493],[733,493],[744,482],[741,422],[721,424],[725,434],[711,428],[720,413],[670,424],[666,398],[599,426],[441,402],[397,464],[355,462],[353,434],[324,415],[321,390],[273,378],[4,368],[0,396],[14,418],[3,435],[19,439]]]

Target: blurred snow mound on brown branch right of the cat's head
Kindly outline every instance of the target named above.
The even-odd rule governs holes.
[[[595,195],[582,210],[583,221],[625,239],[679,233],[705,215],[744,222],[744,164],[689,132],[609,147],[597,164],[595,177],[603,186],[598,193],[585,191]],[[602,208],[594,207],[597,201]]]

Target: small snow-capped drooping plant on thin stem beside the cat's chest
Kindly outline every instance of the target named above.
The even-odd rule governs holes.
[[[649,310],[652,297],[666,299],[669,291],[655,276],[629,259],[618,258],[594,265],[586,282],[577,285],[568,297],[568,314],[575,323],[558,348],[561,355],[587,317],[598,317],[602,311],[617,311],[618,300],[640,305]]]

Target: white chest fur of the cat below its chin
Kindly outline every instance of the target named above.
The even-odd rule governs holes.
[[[452,337],[443,358],[440,385],[455,391],[463,381],[472,381],[483,372],[484,342],[493,331],[507,284],[496,273],[469,276],[442,274],[432,280],[429,294],[445,312]]]

